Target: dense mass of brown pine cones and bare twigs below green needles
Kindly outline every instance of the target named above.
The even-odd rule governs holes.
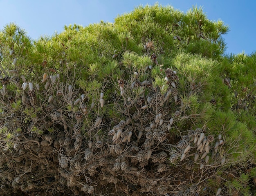
[[[155,54],[151,59],[157,66]],[[12,150],[2,143],[2,192],[21,189],[33,195],[38,190],[39,195],[47,189],[51,195],[139,192],[176,196],[199,192],[203,168],[225,163],[218,153],[223,140],[219,136],[211,145],[214,137],[205,136],[200,128],[184,130],[178,137],[172,134],[175,124],[182,121],[182,100],[176,71],[167,68],[165,73],[165,93],[154,87],[153,78],[140,81],[138,73],[130,82],[117,81],[118,107],[124,119],[115,125],[104,124],[94,111],[95,104],[89,105],[74,85],[61,83],[59,74],[45,73],[40,85],[20,76],[21,85],[17,73],[2,78],[1,126],[13,134]],[[40,101],[42,95],[47,100]],[[101,107],[103,98],[101,93]],[[67,110],[69,103],[78,110]],[[95,116],[89,128],[85,126],[88,115]]]

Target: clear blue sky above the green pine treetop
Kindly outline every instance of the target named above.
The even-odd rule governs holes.
[[[229,25],[230,31],[223,36],[226,53],[256,51],[255,0],[0,0],[0,29],[15,22],[37,39],[54,31],[60,33],[64,25],[113,22],[117,15],[155,2],[184,12],[193,5],[203,6],[210,20],[220,19]]]

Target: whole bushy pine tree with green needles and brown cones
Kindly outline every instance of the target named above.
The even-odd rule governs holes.
[[[201,8],[138,7],[32,41],[0,32],[5,195],[249,196],[256,53]]]

